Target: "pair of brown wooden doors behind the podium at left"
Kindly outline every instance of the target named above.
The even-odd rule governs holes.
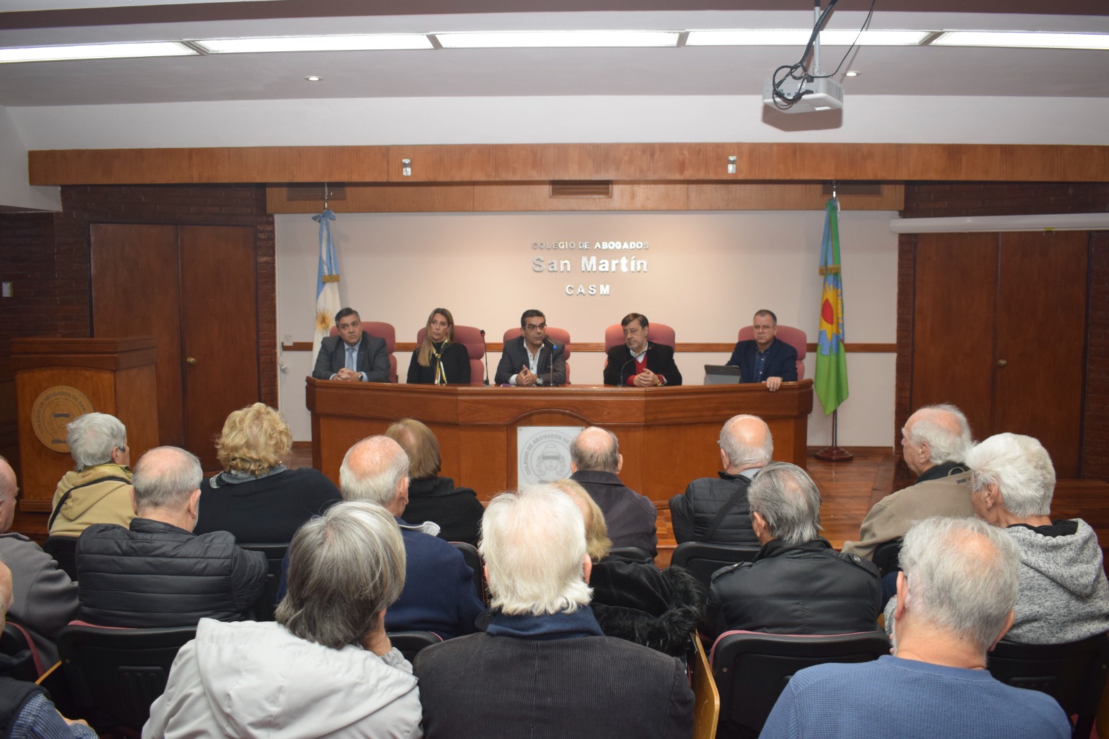
[[[93,224],[93,336],[159,342],[160,443],[218,468],[213,438],[260,398],[254,232]]]

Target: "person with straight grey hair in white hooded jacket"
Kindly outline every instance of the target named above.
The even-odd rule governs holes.
[[[338,503],[289,546],[276,622],[201,620],[177,654],[144,739],[420,736],[411,665],[385,633],[405,583],[388,511]]]

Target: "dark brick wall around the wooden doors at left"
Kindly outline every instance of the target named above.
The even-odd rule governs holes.
[[[277,298],[273,217],[263,186],[62,187],[61,213],[0,213],[0,454],[11,459],[14,388],[9,359],[19,336],[91,336],[89,228],[93,223],[155,223],[254,228],[257,259],[261,400],[277,404]],[[10,390],[7,394],[7,389]],[[4,422],[12,418],[12,439]]]

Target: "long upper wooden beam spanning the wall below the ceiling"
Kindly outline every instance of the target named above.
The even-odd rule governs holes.
[[[728,172],[730,156],[734,174]],[[736,142],[37,150],[28,152],[28,168],[31,185],[1103,182],[1109,146]]]

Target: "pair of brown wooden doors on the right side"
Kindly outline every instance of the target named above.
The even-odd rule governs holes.
[[[975,439],[1040,440],[1059,478],[1081,462],[1085,232],[922,234],[913,408],[953,402]]]

